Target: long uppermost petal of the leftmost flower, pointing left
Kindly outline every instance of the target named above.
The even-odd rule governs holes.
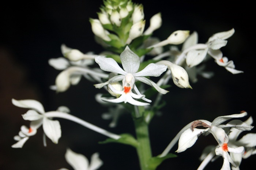
[[[12,99],[12,104],[22,108],[34,109],[42,114],[45,113],[44,106],[40,102],[33,99],[27,99],[27,100]]]

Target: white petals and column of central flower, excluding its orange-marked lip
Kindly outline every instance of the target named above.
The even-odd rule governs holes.
[[[120,59],[124,70],[117,64],[113,58],[106,58],[96,56],[95,61],[99,64],[99,67],[108,72],[119,73],[120,75],[114,76],[105,83],[94,84],[96,88],[102,88],[106,84],[123,81],[124,87],[136,88],[135,82],[140,81],[153,86],[158,92],[166,94],[168,91],[160,88],[152,80],[145,78],[144,76],[158,77],[166,71],[167,66],[162,64],[148,64],[142,71],[138,71],[140,65],[140,57],[132,52],[128,46],[120,54]],[[138,93],[137,93],[138,94]]]

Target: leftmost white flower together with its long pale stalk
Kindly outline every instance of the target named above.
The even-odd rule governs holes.
[[[12,104],[18,107],[31,109],[27,113],[23,114],[22,117],[24,120],[29,120],[30,128],[26,126],[21,127],[19,136],[15,136],[14,139],[18,142],[12,147],[21,148],[24,143],[29,139],[30,136],[35,135],[37,129],[42,125],[44,129],[44,134],[52,140],[53,143],[58,143],[58,140],[61,137],[61,127],[58,120],[52,120],[52,118],[64,118],[67,120],[74,121],[86,128],[89,128],[95,132],[101,133],[102,135],[108,136],[112,139],[120,139],[120,135],[108,132],[105,129],[99,128],[89,122],[81,120],[71,114],[68,114],[70,110],[65,106],[60,106],[56,111],[45,112],[43,105],[33,99],[27,100],[15,100],[12,99]],[[46,141],[44,137],[44,146],[46,146]]]

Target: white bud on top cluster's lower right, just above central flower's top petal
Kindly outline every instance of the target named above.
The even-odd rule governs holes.
[[[140,20],[139,22],[136,22],[132,25],[130,31],[129,31],[129,37],[126,41],[126,44],[130,44],[131,41],[140,35],[142,35],[144,31],[146,20]]]

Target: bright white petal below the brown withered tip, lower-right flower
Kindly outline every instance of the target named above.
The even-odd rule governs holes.
[[[194,131],[191,131],[191,129],[187,129],[184,131],[179,139],[178,142],[178,150],[176,152],[183,152],[187,150],[187,148],[190,148],[193,146],[193,144],[196,142],[198,136],[204,132],[204,129],[197,129],[194,128]]]

